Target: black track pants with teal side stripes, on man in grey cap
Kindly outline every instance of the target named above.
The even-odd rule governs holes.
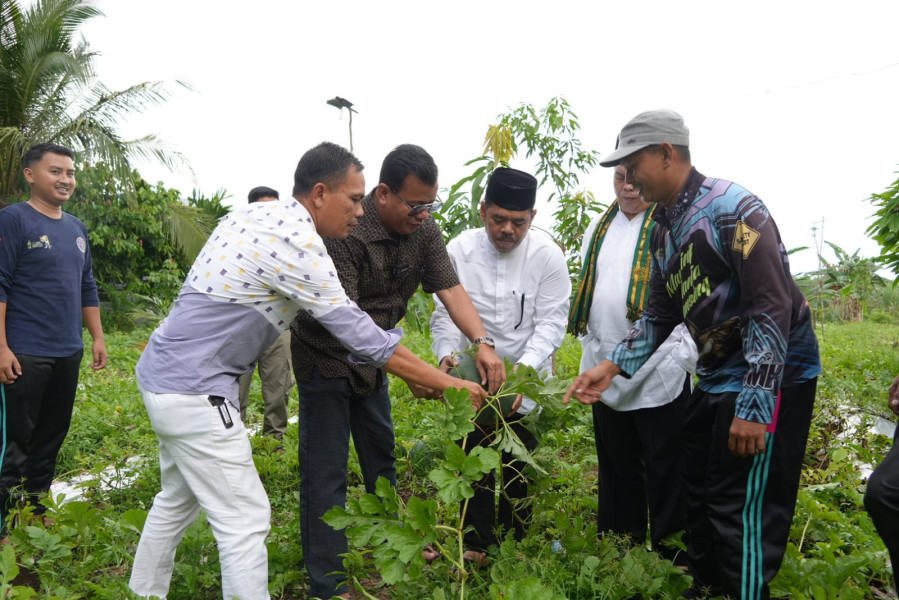
[[[727,448],[737,394],[695,390],[684,421],[687,558],[695,585],[715,595],[766,600],[796,509],[817,379],[782,389],[767,451]]]

